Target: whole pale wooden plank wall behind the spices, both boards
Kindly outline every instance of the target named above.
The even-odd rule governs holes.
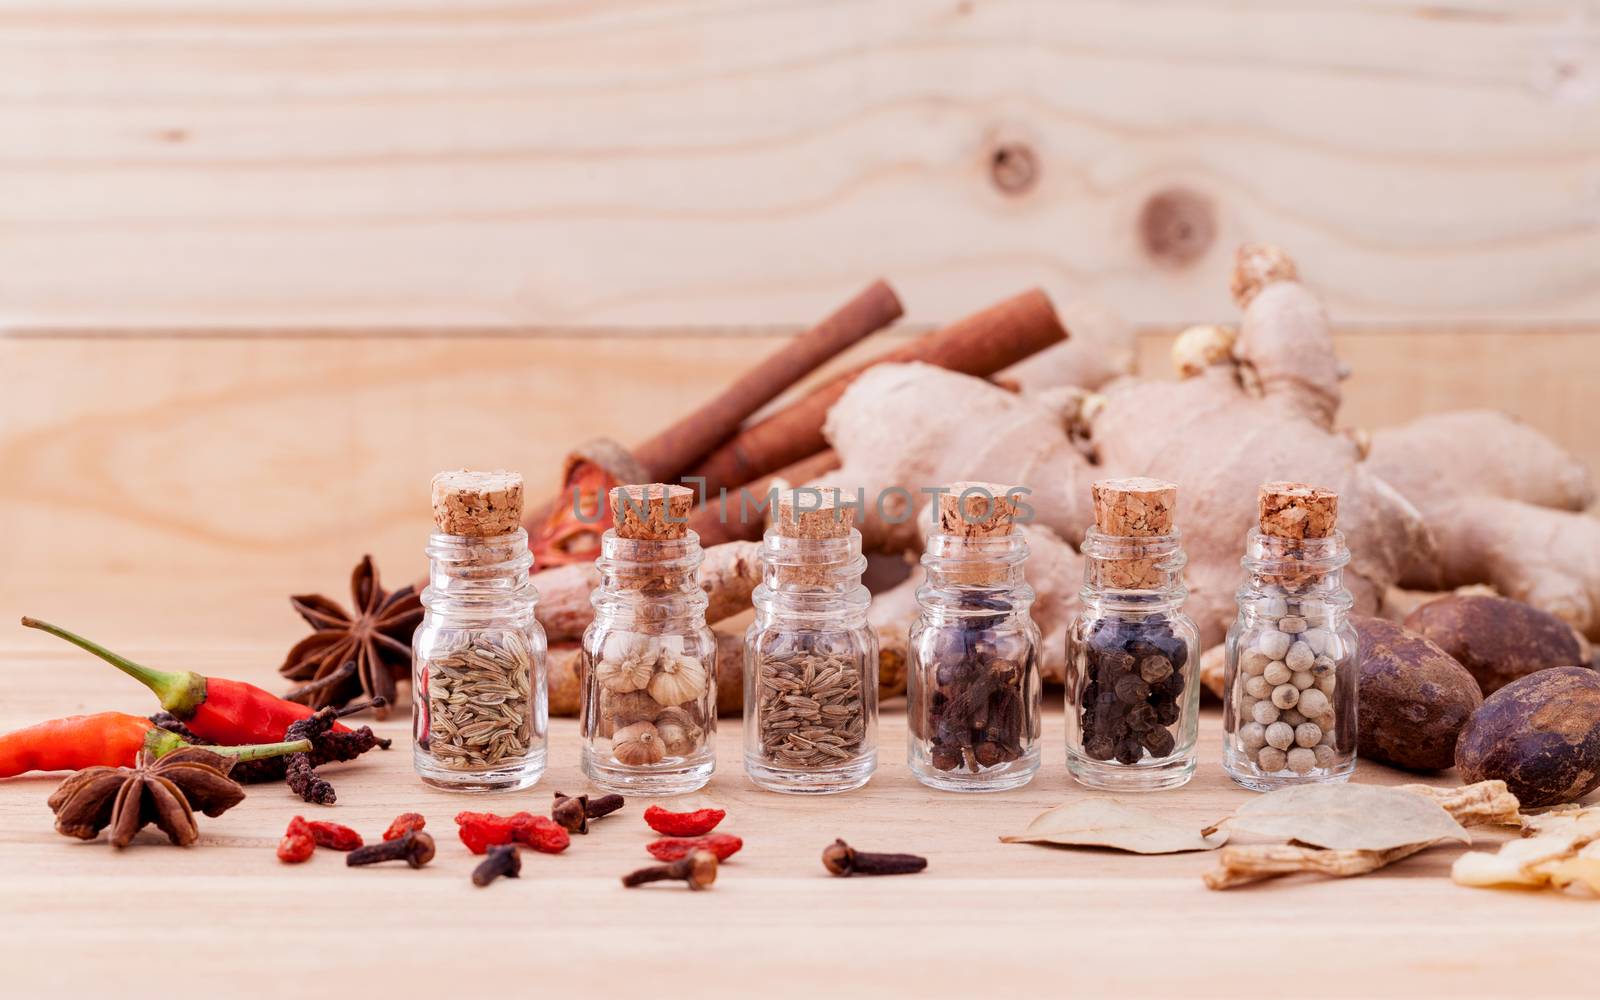
[[[1600,467],[1592,14],[0,0],[0,610],[283,642],[362,550],[419,568],[434,470],[549,480],[870,277],[909,325],[1102,302],[1160,373],[1256,238],[1349,422],[1501,406]]]

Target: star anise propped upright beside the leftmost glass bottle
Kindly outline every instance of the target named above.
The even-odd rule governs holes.
[[[315,632],[294,643],[278,674],[306,682],[286,694],[291,701],[320,709],[341,707],[363,694],[382,698],[386,707],[373,714],[387,718],[395,678],[411,672],[411,634],[422,621],[422,600],[410,586],[384,592],[371,555],[363,555],[350,574],[350,597],[355,614],[320,594],[290,598]],[[341,677],[347,662],[355,662],[355,672]]]

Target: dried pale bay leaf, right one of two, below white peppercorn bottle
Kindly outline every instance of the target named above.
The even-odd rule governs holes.
[[[1389,851],[1416,843],[1472,843],[1437,802],[1371,784],[1299,784],[1258,795],[1210,829],[1294,840],[1336,851]]]

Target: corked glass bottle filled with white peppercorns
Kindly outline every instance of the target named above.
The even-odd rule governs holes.
[[[1358,667],[1339,494],[1264,483],[1258,504],[1227,630],[1222,766],[1256,790],[1349,781]]]

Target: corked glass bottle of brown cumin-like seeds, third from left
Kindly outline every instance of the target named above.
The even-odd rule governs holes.
[[[845,792],[877,768],[878,637],[854,507],[781,493],[744,637],[744,768],[773,792]]]

